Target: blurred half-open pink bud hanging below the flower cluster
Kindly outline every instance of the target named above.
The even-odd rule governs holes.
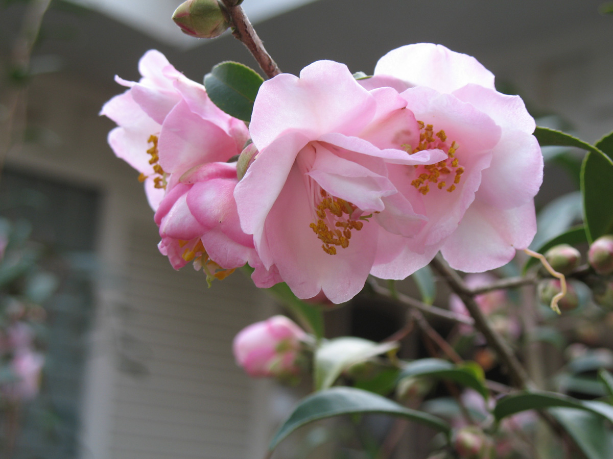
[[[273,316],[238,332],[233,351],[236,362],[250,376],[291,376],[300,371],[300,341],[307,334],[286,316]]]

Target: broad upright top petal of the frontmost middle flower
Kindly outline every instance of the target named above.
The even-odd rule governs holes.
[[[262,150],[289,130],[301,132],[310,140],[327,132],[352,135],[371,121],[375,111],[375,100],[346,65],[317,61],[305,67],[300,78],[282,73],[264,81],[253,106],[249,131]]]

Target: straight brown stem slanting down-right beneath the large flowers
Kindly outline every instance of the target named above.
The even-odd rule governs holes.
[[[524,367],[519,363],[519,360],[509,349],[503,338],[490,326],[484,313],[479,308],[479,305],[474,300],[474,294],[469,289],[462,278],[449,268],[438,257],[432,260],[432,267],[436,269],[447,281],[451,289],[462,299],[468,309],[468,312],[474,319],[474,327],[481,332],[489,346],[495,351],[500,359],[500,362],[509,372],[511,379],[516,387],[527,389],[530,386],[528,375]]]

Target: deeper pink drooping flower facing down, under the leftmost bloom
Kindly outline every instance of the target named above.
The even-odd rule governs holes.
[[[274,267],[264,269],[253,245],[238,223],[234,187],[236,163],[205,163],[181,176],[164,196],[155,214],[162,241],[158,247],[180,269],[190,261],[207,273],[207,280],[223,279],[248,263],[259,287],[281,280]]]

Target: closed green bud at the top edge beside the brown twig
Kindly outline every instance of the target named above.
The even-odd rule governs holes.
[[[187,0],[172,14],[184,34],[197,38],[215,38],[223,34],[230,23],[218,0]]]

